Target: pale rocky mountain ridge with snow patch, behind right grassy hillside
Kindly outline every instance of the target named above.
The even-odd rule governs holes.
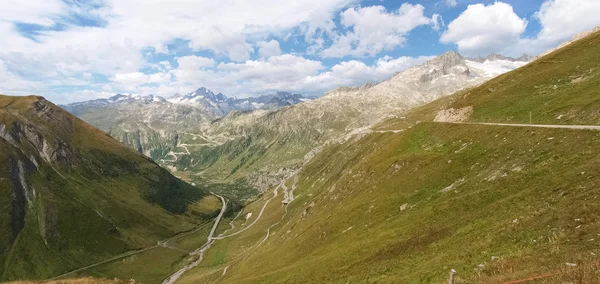
[[[378,84],[338,88],[275,111],[232,112],[203,126],[203,135],[211,137],[213,145],[190,148],[194,143],[188,140],[183,144],[190,154],[177,150],[184,154],[163,165],[184,173],[202,172],[212,180],[244,179],[264,190],[324,145],[525,63],[481,64],[449,52]]]

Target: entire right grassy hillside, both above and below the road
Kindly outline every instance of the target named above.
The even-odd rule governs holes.
[[[471,122],[600,124],[599,40],[331,145],[287,208],[265,193],[181,283],[600,282],[599,131],[432,122],[472,106]]]

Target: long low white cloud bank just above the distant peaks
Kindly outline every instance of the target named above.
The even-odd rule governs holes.
[[[236,96],[259,95],[276,90],[322,94],[339,86],[378,82],[431,58],[383,57],[371,66],[352,60],[326,69],[319,61],[284,54],[243,63],[221,63],[216,70],[182,69],[180,66],[172,71],[177,79],[175,83],[160,90],[145,90],[153,94],[173,94],[206,86],[213,91]]]

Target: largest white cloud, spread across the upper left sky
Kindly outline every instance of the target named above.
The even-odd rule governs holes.
[[[71,5],[60,0],[23,1],[0,2],[0,59],[5,60],[8,69],[35,70],[36,75],[46,76],[38,79],[47,79],[79,72],[107,76],[135,72],[146,64],[143,50],[153,48],[164,53],[165,44],[174,39],[188,40],[196,51],[208,50],[245,61],[253,51],[249,38],[259,41],[298,27],[329,29],[335,11],[354,0],[305,0],[285,5],[279,0],[229,4],[209,0],[106,0],[98,1],[103,6],[93,10],[89,10],[91,5],[73,5],[78,1],[67,1]],[[13,24],[51,26],[74,14],[98,19],[103,26],[66,23],[60,31],[39,31],[33,41],[18,34]],[[16,64],[14,58],[21,62]]]

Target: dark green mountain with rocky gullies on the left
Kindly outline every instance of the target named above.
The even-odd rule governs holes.
[[[207,190],[37,96],[0,96],[0,169],[0,281],[155,246],[218,210]]]

